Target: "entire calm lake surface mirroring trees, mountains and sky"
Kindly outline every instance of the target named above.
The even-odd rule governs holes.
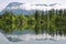
[[[66,44],[65,25],[0,25],[1,44]]]

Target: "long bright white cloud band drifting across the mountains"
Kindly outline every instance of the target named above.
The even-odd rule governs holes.
[[[8,7],[8,9],[22,9],[22,10],[51,10],[51,9],[61,9],[62,6],[58,3],[52,3],[53,6],[50,4],[31,4],[31,3],[24,3],[24,4],[20,4],[20,6],[12,6],[12,7]]]

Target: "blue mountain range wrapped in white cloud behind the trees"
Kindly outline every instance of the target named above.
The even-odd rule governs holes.
[[[58,3],[52,3],[52,4],[31,4],[31,3],[20,3],[20,2],[11,2],[9,3],[3,10],[4,11],[11,11],[13,13],[34,13],[35,10],[48,10],[52,9],[55,6],[59,6]]]

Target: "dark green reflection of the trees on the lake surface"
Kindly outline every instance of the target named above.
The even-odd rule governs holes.
[[[2,24],[0,25],[0,30],[2,30],[4,33],[12,33],[13,31],[24,31],[24,30],[32,30],[35,34],[43,34],[48,33],[50,35],[66,35],[66,25],[65,24]]]

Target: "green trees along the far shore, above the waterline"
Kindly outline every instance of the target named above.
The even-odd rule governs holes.
[[[66,22],[66,9],[62,10],[46,10],[38,11],[36,10],[33,14],[14,14],[12,12],[6,11],[0,14],[0,22],[10,24],[10,23],[48,23],[48,22]]]

